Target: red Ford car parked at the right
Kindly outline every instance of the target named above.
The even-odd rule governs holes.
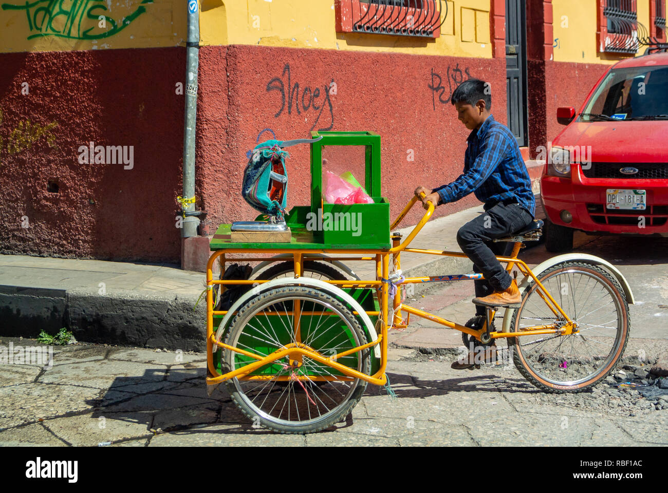
[[[546,152],[540,180],[550,252],[573,231],[668,236],[668,53],[612,65]]]

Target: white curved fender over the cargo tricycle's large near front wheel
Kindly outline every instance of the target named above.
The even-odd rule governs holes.
[[[234,305],[230,307],[228,310],[227,314],[225,317],[220,321],[220,325],[218,325],[218,330],[216,331],[216,341],[220,342],[220,337],[222,337],[222,333],[232,317],[232,313],[237,311],[241,305],[246,303],[249,299],[256,297],[258,295],[261,295],[264,291],[268,291],[269,289],[273,289],[275,287],[282,287],[282,286],[311,286],[320,289],[321,291],[325,291],[325,293],[329,293],[331,295],[335,295],[343,300],[345,300],[346,303],[351,305],[353,307],[353,311],[356,311],[359,313],[359,317],[361,317],[367,331],[369,331],[369,335],[375,339],[378,339],[378,334],[375,331],[375,327],[373,327],[373,323],[371,323],[371,319],[369,319],[369,315],[364,311],[362,306],[357,303],[357,300],[355,300],[351,295],[343,291],[343,289],[340,289],[337,286],[331,285],[329,283],[325,283],[325,281],[321,281],[320,279],[312,279],[311,277],[298,277],[297,279],[273,279],[272,281],[269,281],[269,283],[263,283],[261,285],[257,285],[250,291],[246,292],[242,297],[240,297]],[[369,341],[371,342],[371,341]],[[213,347],[213,353],[215,353],[218,349],[218,345],[214,345]],[[373,346],[373,355],[375,357],[380,358],[380,347],[379,345]]]

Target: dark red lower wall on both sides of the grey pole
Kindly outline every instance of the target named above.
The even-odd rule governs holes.
[[[0,65],[0,252],[178,262],[184,49],[2,53]],[[255,217],[240,184],[264,129],[281,140],[311,130],[380,134],[383,195],[396,216],[415,187],[462,171],[469,132],[450,95],[470,77],[490,81],[492,113],[506,123],[503,59],[202,47],[196,187],[209,232]],[[79,164],[89,142],[134,146],[134,168]],[[308,204],[309,146],[290,154],[288,204]],[[436,216],[477,203],[469,196]],[[421,215],[415,208],[404,224]]]

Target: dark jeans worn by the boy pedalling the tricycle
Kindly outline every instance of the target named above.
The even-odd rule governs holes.
[[[526,229],[534,218],[516,202],[499,202],[474,220],[467,222],[457,232],[457,242],[473,262],[473,271],[482,273],[485,279],[474,281],[476,297],[485,297],[494,291],[504,291],[510,287],[512,278],[496,255],[508,256],[512,253],[512,242],[495,243],[495,238],[503,238]],[[484,315],[484,307],[476,307],[476,315]]]

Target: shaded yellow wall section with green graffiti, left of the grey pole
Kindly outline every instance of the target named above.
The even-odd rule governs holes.
[[[0,0],[0,52],[176,46],[186,9],[186,0]]]

